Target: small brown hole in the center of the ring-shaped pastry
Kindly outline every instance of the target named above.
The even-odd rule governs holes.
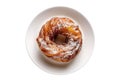
[[[67,37],[64,36],[64,35],[58,34],[58,35],[55,37],[54,42],[55,42],[56,44],[65,44],[65,43],[67,43]]]

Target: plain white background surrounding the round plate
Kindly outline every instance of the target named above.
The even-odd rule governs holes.
[[[53,6],[78,10],[95,34],[91,59],[69,75],[42,71],[26,51],[29,24],[37,14]],[[0,0],[0,80],[120,80],[120,1]]]

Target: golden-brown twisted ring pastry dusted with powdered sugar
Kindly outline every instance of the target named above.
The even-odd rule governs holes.
[[[42,26],[36,41],[47,58],[66,63],[79,53],[82,34],[70,18],[53,17]]]

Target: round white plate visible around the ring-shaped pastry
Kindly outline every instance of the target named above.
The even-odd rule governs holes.
[[[73,19],[78,25],[83,35],[83,44],[80,54],[65,66],[53,65],[47,62],[40,53],[36,43],[41,26],[54,16],[65,16]],[[93,30],[86,18],[74,9],[67,7],[53,7],[41,12],[30,24],[26,35],[26,47],[32,61],[42,70],[53,74],[68,74],[80,69],[92,55],[94,46]]]

